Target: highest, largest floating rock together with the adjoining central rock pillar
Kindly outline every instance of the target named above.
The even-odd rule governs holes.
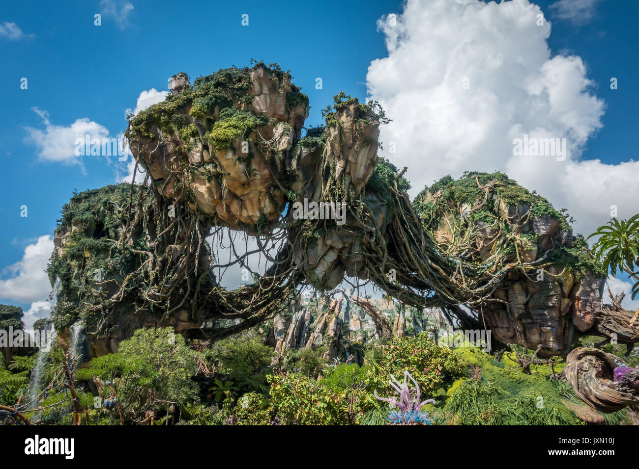
[[[130,122],[134,157],[162,197],[210,216],[212,225],[249,234],[268,232],[287,204],[288,211],[293,202],[332,204],[328,229],[321,213],[304,221],[293,211],[299,222],[289,228],[294,262],[324,288],[334,288],[344,274],[367,278],[362,243],[389,223],[385,202],[364,190],[377,163],[374,109],[345,96],[323,133],[300,140],[308,98],[288,73],[263,65],[229,70],[198,78],[193,87],[176,75],[171,99]],[[374,213],[366,226],[353,216],[360,196]],[[341,215],[346,219],[336,223]],[[300,231],[311,235],[297,236]]]

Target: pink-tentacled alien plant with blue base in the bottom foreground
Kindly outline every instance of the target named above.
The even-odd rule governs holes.
[[[433,419],[429,417],[428,412],[422,412],[421,409],[426,404],[435,403],[435,399],[426,399],[426,401],[420,402],[419,384],[408,373],[408,370],[404,371],[403,383],[399,383],[393,375],[390,375],[390,378],[392,380],[389,381],[389,384],[395,389],[395,396],[392,398],[380,398],[377,395],[377,391],[373,391],[377,399],[390,403],[389,422],[393,425],[431,425]],[[411,393],[408,378],[415,383],[414,396]]]

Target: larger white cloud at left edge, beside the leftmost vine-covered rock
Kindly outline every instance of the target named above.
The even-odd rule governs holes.
[[[45,269],[52,251],[50,235],[40,236],[38,241],[24,248],[22,260],[2,271],[2,277],[8,278],[0,278],[0,298],[20,303],[47,299],[51,285]]]

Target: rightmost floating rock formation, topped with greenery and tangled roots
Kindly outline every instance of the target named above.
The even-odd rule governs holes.
[[[469,173],[458,181],[442,179],[414,205],[432,230],[431,239],[451,257],[472,259],[486,269],[519,264],[490,298],[473,306],[493,338],[532,350],[541,345],[544,355],[566,354],[582,333],[616,333],[632,343],[632,328],[595,327],[597,318],[629,320],[629,315],[619,308],[611,316],[603,308],[604,272],[583,237],[573,236],[567,216],[544,198],[504,174]]]

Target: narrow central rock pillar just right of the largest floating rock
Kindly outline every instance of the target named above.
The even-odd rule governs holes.
[[[369,207],[373,218],[362,223],[355,217],[358,212],[354,200],[348,197],[334,200],[337,207],[343,207],[343,223],[330,230],[318,230],[314,236],[296,239],[295,264],[300,265],[312,283],[324,288],[335,288],[344,279],[344,275],[369,278],[366,269],[363,244],[374,242],[375,232],[385,232],[390,223],[387,204],[376,191],[366,188],[377,163],[377,139],[379,121],[371,115],[371,110],[362,110],[357,102],[337,107],[334,124],[327,126],[326,144],[321,157],[322,147],[309,153],[300,149],[295,155],[296,167],[312,167],[313,163],[323,161],[324,170],[304,170],[312,174],[312,179],[304,179],[305,187],[300,199],[320,202],[327,198],[327,182],[340,181],[352,188],[354,197],[362,196],[361,202]],[[326,181],[327,171],[330,179]],[[353,228],[356,228],[353,230]]]

